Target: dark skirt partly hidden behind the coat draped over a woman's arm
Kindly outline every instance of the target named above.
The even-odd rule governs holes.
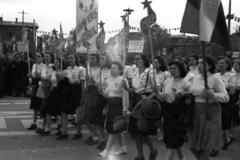
[[[146,96],[149,96],[150,93],[144,94]],[[137,103],[141,100],[142,94],[134,94],[133,95],[133,102],[132,102],[132,109],[137,105]],[[154,129],[150,129],[148,131],[142,131],[138,129],[137,126],[138,119],[133,117],[132,115],[129,118],[129,125],[128,125],[128,133],[130,135],[136,136],[136,135],[142,135],[142,136],[150,136],[150,135],[157,135],[157,127]]]

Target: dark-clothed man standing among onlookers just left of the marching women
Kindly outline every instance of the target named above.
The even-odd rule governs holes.
[[[14,81],[15,81],[15,92],[16,97],[21,97],[21,93],[26,90],[25,78],[28,74],[28,68],[24,61],[22,61],[22,56],[17,54],[15,56],[16,61],[13,62],[12,67],[15,69]]]

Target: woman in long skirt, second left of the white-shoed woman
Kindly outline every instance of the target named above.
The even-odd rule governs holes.
[[[96,145],[98,144],[98,133],[96,125],[91,124],[91,121],[94,119],[94,109],[97,106],[97,98],[99,95],[98,88],[96,87],[95,82],[98,81],[100,68],[99,68],[99,55],[91,54],[90,55],[90,69],[88,69],[88,74],[86,73],[86,81],[84,86],[84,100],[83,100],[83,111],[81,119],[84,120],[85,124],[88,127],[91,135],[87,138],[87,145]]]

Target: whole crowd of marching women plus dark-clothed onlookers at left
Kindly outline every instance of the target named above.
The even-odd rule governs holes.
[[[16,96],[26,93],[26,84],[34,86],[33,123],[28,129],[39,135],[51,134],[55,117],[57,140],[67,139],[69,117],[75,117],[77,132],[72,139],[82,138],[85,124],[89,130],[86,144],[97,145],[98,155],[106,158],[116,139],[120,147],[113,154],[127,153],[123,135],[127,131],[135,140],[135,160],[145,159],[143,142],[150,150],[148,159],[156,159],[152,136],[158,134],[165,143],[166,160],[173,160],[176,153],[185,160],[186,142],[197,159],[208,160],[234,141],[233,128],[239,125],[240,60],[231,62],[221,56],[216,62],[206,56],[207,86],[203,57],[197,55],[171,62],[156,56],[151,64],[146,54],[137,54],[130,66],[113,61],[107,53],[101,59],[91,54],[86,67],[75,54],[62,63],[52,53],[37,52],[31,64],[28,74],[28,62],[16,55],[3,73],[5,78],[14,78],[2,83],[10,83],[5,91],[14,91]],[[20,81],[23,86],[16,85]],[[37,126],[39,115],[41,126]],[[129,122],[116,129],[119,117]]]

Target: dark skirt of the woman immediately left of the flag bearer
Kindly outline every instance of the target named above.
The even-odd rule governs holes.
[[[166,148],[178,149],[183,146],[186,129],[178,123],[179,108],[175,104],[165,103],[163,116],[163,138]]]

